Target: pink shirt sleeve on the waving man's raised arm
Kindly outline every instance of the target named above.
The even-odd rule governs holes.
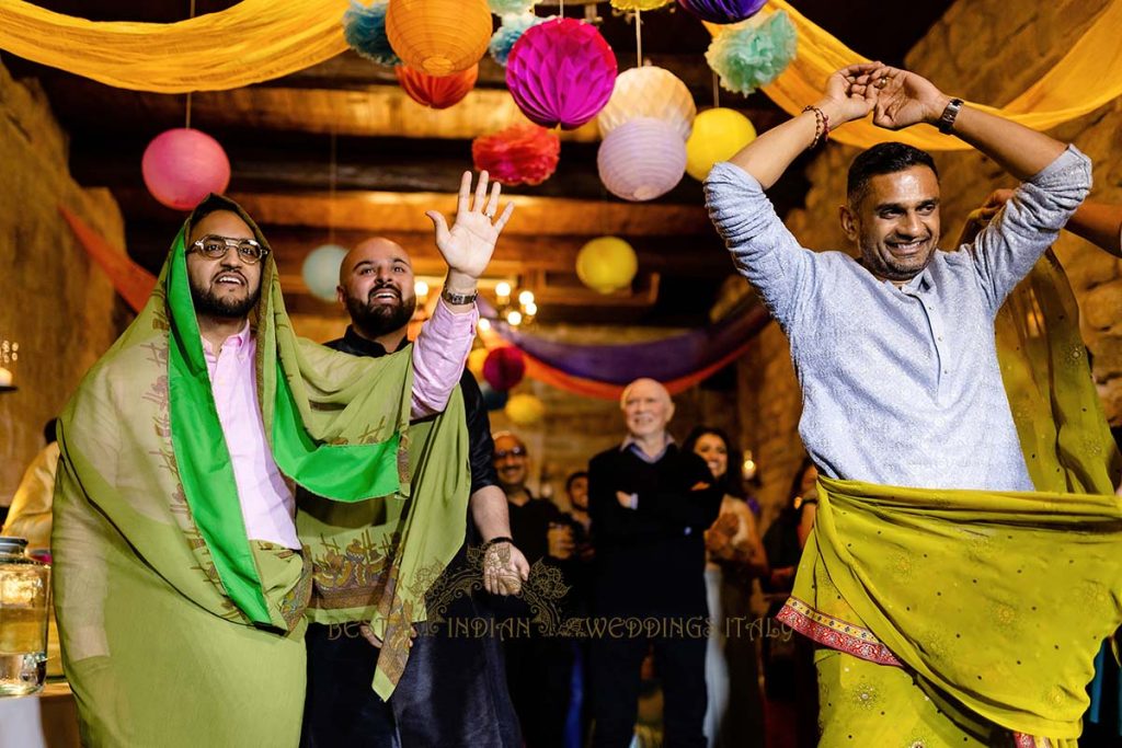
[[[432,317],[421,327],[413,344],[413,418],[440,413],[448,405],[471,352],[478,320],[475,307],[456,314],[444,299],[436,302]]]

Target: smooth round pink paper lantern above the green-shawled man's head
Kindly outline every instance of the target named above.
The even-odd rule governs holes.
[[[153,138],[140,159],[140,172],[151,196],[177,211],[190,211],[230,184],[230,159],[222,146],[188,128],[165,130]]]

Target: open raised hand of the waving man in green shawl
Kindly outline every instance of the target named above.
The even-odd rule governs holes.
[[[465,172],[460,181],[460,195],[456,210],[456,222],[451,230],[444,216],[438,211],[427,211],[427,215],[436,230],[436,248],[448,262],[450,271],[449,280],[453,290],[473,290],[473,284],[487,269],[491,253],[495,251],[495,242],[498,240],[503,227],[511,220],[514,211],[514,203],[507,203],[502,215],[495,220],[498,212],[498,198],[502,187],[496,182],[487,195],[487,172],[479,174],[479,182],[475,191],[475,200],[471,198],[471,172]],[[456,277],[459,275],[460,277]],[[460,284],[454,281],[459,280]],[[465,288],[461,284],[469,284],[471,288]]]

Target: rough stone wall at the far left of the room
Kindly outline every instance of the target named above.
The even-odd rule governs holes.
[[[117,204],[108,192],[83,190],[70,177],[66,135],[46,96],[34,81],[13,81],[2,65],[0,174],[0,340],[19,343],[18,390],[0,394],[0,505],[7,505],[43,446],[43,424],[129,315],[57,210],[66,205],[123,247]]]

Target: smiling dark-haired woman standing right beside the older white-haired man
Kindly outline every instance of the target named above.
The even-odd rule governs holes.
[[[756,645],[749,635],[749,598],[752,581],[767,573],[767,557],[756,518],[744,500],[741,452],[724,431],[710,426],[695,428],[682,450],[705,460],[725,492],[717,521],[705,533],[709,602],[706,738],[710,748],[763,746],[764,715]]]

